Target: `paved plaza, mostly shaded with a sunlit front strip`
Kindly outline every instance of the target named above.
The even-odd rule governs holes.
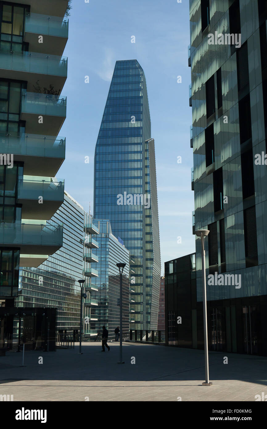
[[[255,401],[267,394],[267,357],[210,352],[204,387],[204,351],[162,345],[83,343],[57,352],[9,352],[0,357],[0,394],[14,401]],[[39,356],[43,363],[39,364]],[[224,364],[228,356],[228,364]],[[133,362],[135,358],[135,363]],[[178,398],[178,399],[177,399]]]

